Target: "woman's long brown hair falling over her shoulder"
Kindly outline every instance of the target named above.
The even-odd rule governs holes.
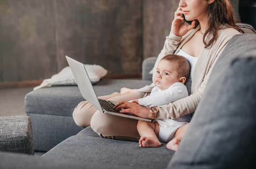
[[[203,35],[203,43],[205,48],[212,45],[218,36],[218,30],[220,25],[224,25],[228,28],[237,29],[239,32],[245,33],[239,26],[236,25],[233,8],[229,0],[215,0],[210,4],[210,10],[207,18],[207,30]],[[208,34],[212,34],[213,37],[209,42],[205,39]]]

